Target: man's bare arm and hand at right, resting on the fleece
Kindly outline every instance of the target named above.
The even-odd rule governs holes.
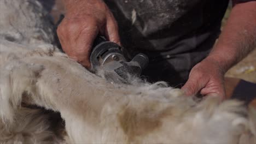
[[[256,43],[256,1],[234,0],[226,26],[210,55],[190,71],[182,89],[188,95],[218,95],[225,98],[224,73],[241,61]]]

